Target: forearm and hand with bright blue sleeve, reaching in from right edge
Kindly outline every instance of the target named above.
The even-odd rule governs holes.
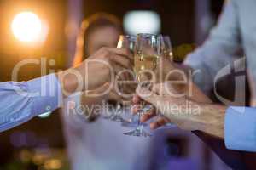
[[[224,139],[230,150],[256,151],[255,108],[203,104],[186,97],[175,97],[165,90],[166,87],[166,84],[158,84],[152,91],[137,88],[140,98],[156,108],[155,112],[143,116],[143,122],[160,112],[183,130],[201,131]],[[154,122],[151,126],[160,124]]]

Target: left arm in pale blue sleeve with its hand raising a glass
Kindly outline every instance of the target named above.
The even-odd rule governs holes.
[[[122,67],[131,69],[128,55],[124,49],[103,48],[67,71],[28,82],[0,82],[0,132],[54,111],[62,106],[63,98],[76,91],[108,89],[115,72]]]

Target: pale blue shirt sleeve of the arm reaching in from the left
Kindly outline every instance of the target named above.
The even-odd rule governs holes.
[[[0,132],[62,105],[55,74],[28,82],[0,82]]]

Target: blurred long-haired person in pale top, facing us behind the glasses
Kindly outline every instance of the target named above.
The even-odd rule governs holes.
[[[122,33],[119,20],[112,14],[93,14],[82,22],[74,64],[79,64],[98,48],[117,47],[119,35]],[[98,89],[98,92],[101,91],[102,89]],[[102,100],[121,102],[124,99],[113,90],[101,99],[76,94],[65,101],[66,108],[61,115],[72,169],[150,169],[153,138],[125,136],[123,133],[129,131],[129,128],[122,127],[119,122],[104,119],[103,116],[108,115],[104,109],[99,111],[100,116],[85,119],[69,108],[70,105],[74,107],[73,104],[79,107],[81,103],[90,108],[87,111],[91,112],[93,109],[97,110],[99,105],[103,107]],[[130,113],[129,108],[124,107],[121,110],[123,115]],[[87,111],[85,114],[88,114]],[[113,111],[110,114],[114,114]]]

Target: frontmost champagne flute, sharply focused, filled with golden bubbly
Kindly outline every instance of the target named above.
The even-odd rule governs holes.
[[[154,34],[138,34],[135,46],[135,74],[137,77],[138,86],[142,88],[150,88],[152,82],[155,82],[155,72],[160,59],[160,37]],[[149,137],[150,133],[143,130],[143,124],[140,122],[140,117],[145,111],[149,111],[152,105],[142,103],[142,108],[138,111],[139,120],[135,130],[124,133],[130,136]]]

